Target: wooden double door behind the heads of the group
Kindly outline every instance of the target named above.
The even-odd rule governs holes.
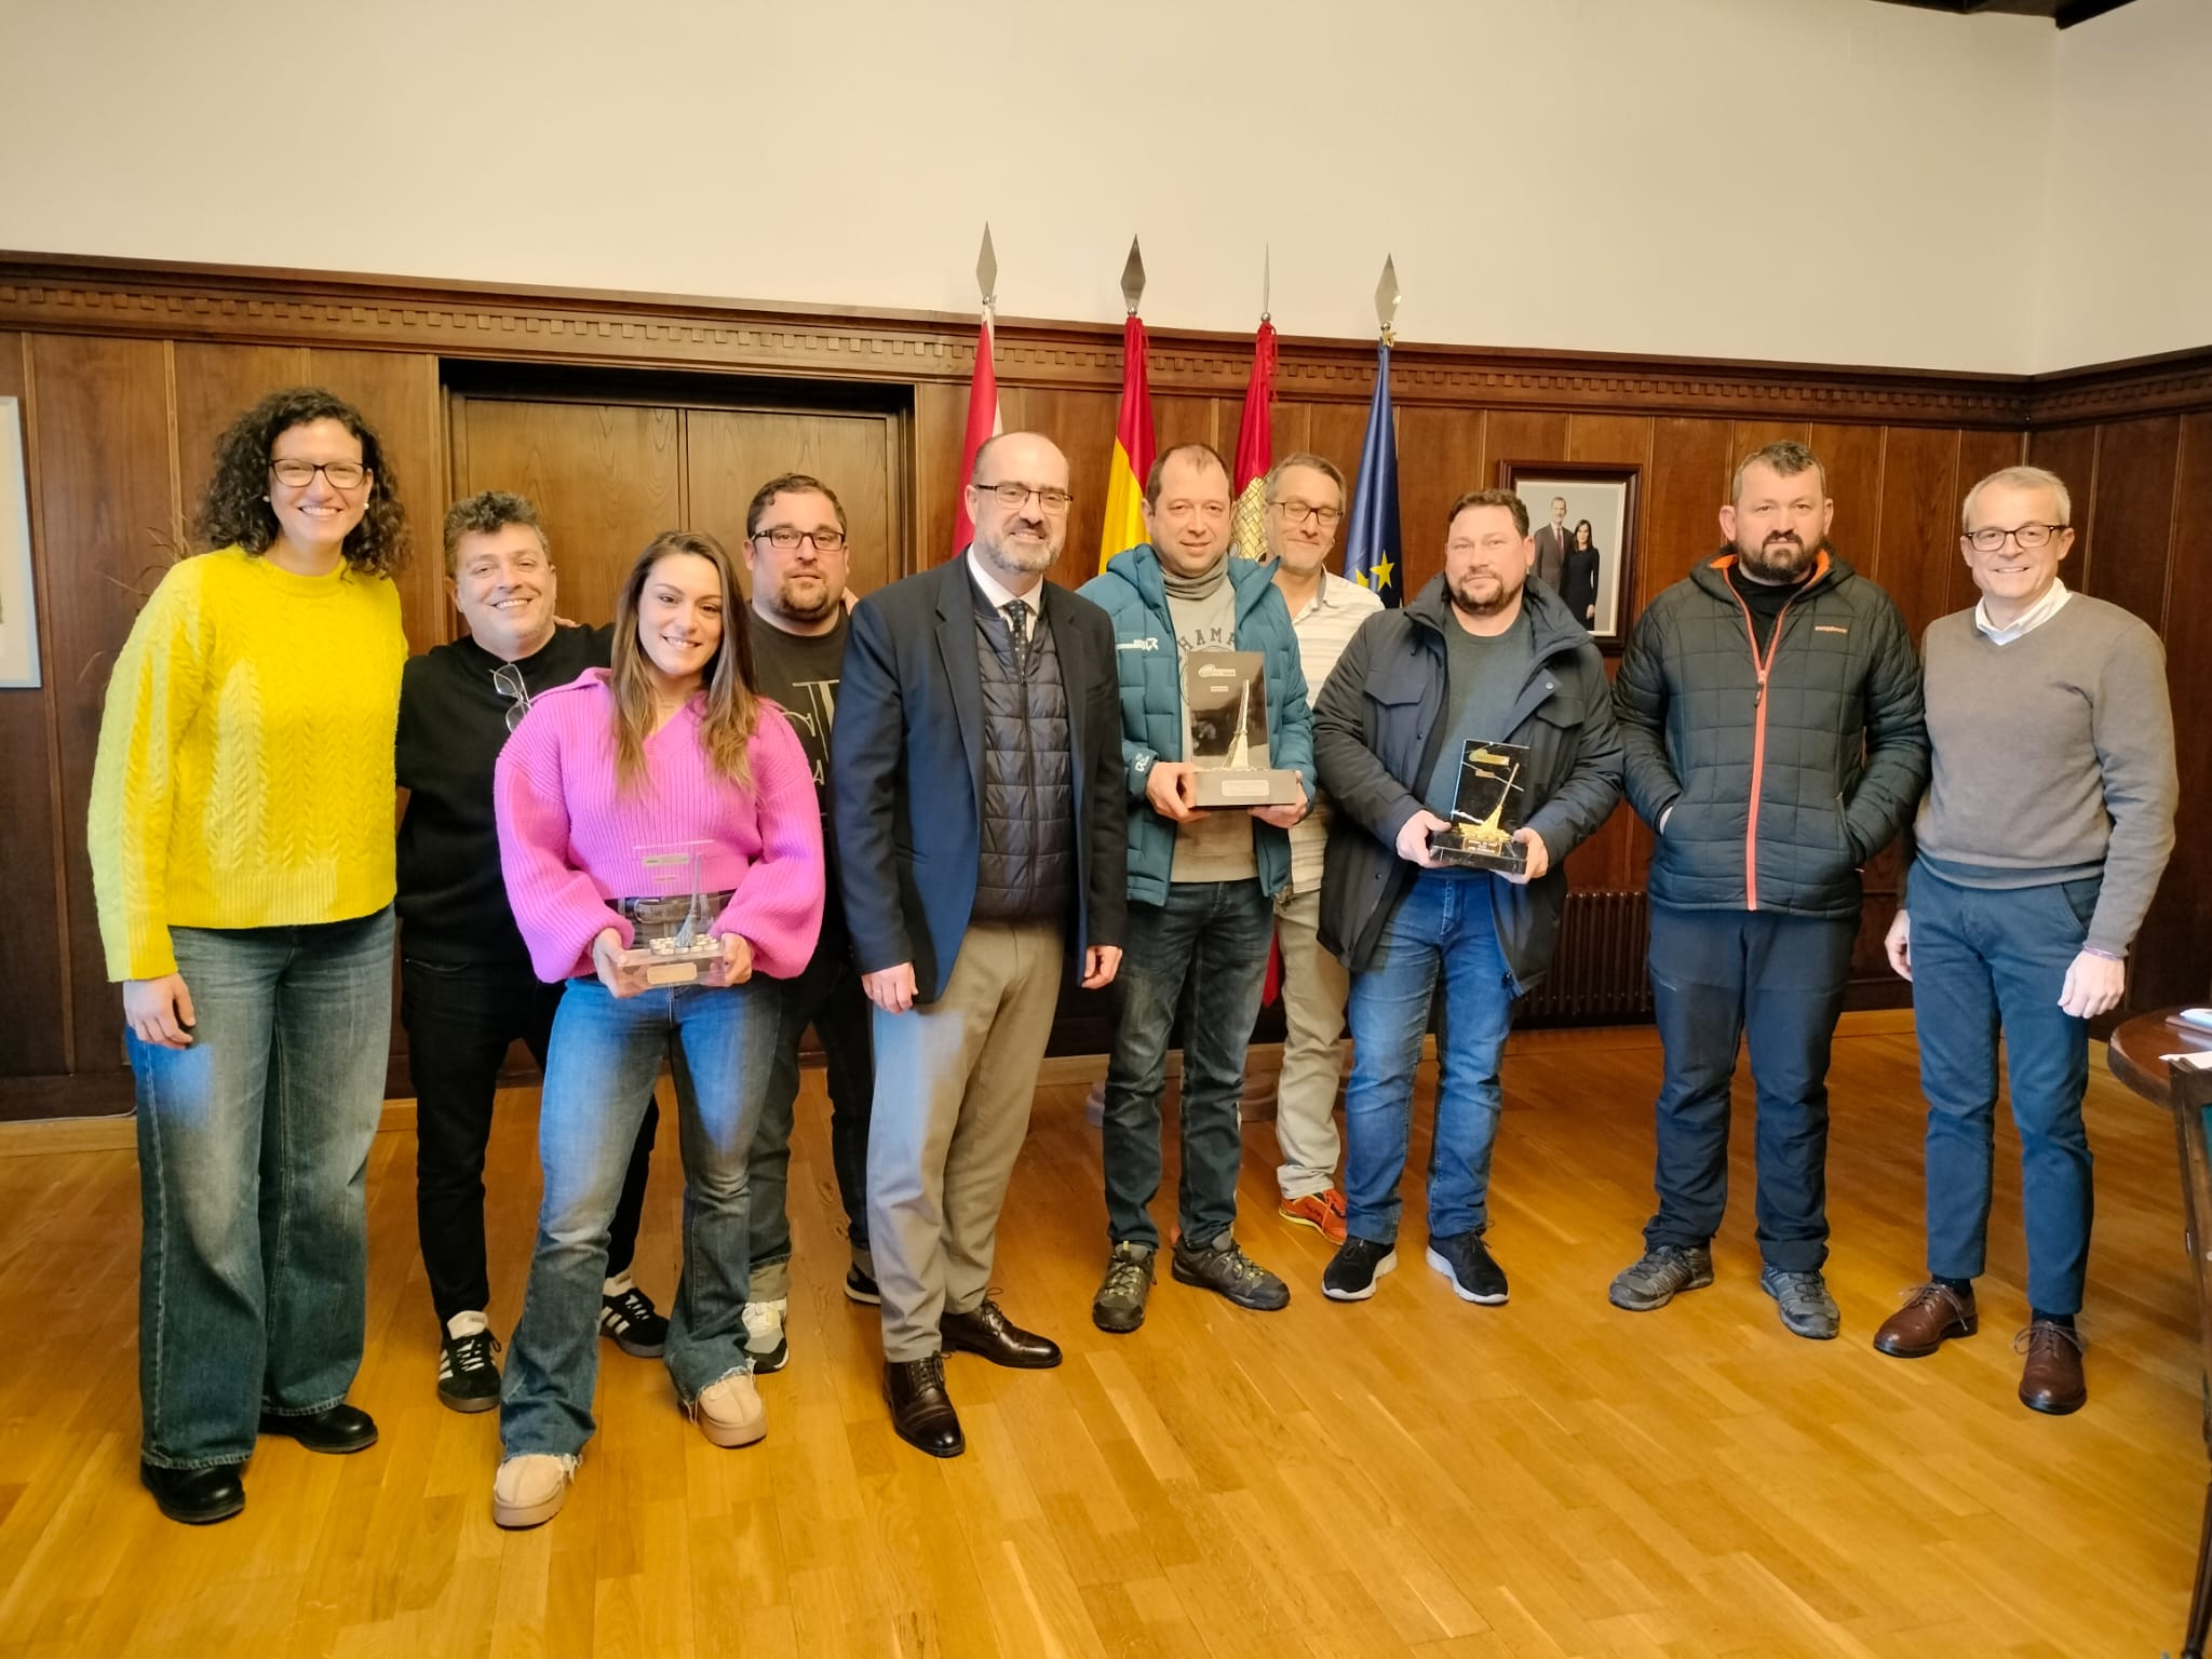
[[[745,507],[781,473],[836,491],[852,540],[852,586],[911,568],[907,414],[885,407],[774,407],[703,398],[449,392],[453,500],[529,495],[560,571],[560,611],[611,622],[639,549],[661,531],[706,531],[745,566]],[[750,597],[750,588],[748,588]],[[449,635],[453,619],[447,617]]]

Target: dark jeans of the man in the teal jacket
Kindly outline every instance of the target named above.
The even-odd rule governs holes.
[[[1179,880],[1166,905],[1128,907],[1106,1062],[1106,1232],[1159,1248],[1159,1095],[1168,1035],[1183,1015],[1183,1237],[1212,1243],[1237,1225],[1243,1166],[1243,1062],[1267,978],[1274,909],[1259,880]]]

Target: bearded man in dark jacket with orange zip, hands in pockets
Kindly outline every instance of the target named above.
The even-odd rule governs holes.
[[[1637,622],[1615,681],[1628,801],[1652,825],[1652,1000],[1666,1044],[1659,1214],[1613,1305],[1712,1283],[1728,1084],[1759,1091],[1761,1287],[1796,1336],[1840,1325],[1827,1261],[1827,1053],[1858,938],[1858,867],[1929,774],[1920,661],[1896,604],[1827,549],[1805,445],[1736,467],[1721,549]]]

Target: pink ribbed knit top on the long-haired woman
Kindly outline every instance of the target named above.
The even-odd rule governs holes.
[[[734,889],[717,933],[752,945],[754,973],[792,978],[823,922],[823,830],[814,770],[790,721],[770,701],[745,748],[752,787],[719,776],[699,745],[695,697],[646,739],[644,779],[615,792],[615,697],[606,670],[540,692],[500,750],[493,805],[500,867],[531,967],[551,984],[591,973],[602,927],[630,945],[615,898],[655,889],[641,847],[706,843],[701,885]]]

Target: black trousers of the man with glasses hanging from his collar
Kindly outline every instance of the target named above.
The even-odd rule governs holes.
[[[416,1230],[431,1305],[442,1327],[453,1314],[491,1303],[484,1267],[484,1146],[500,1062],[518,1037],[546,1062],[562,984],[542,984],[529,967],[436,962],[400,956],[400,1024],[407,1029],[407,1073],[416,1091]],[[622,1181],[606,1272],[615,1276],[637,1254],[637,1221],[646,1208],[646,1172],[659,1106],[646,1102],[630,1170]]]

